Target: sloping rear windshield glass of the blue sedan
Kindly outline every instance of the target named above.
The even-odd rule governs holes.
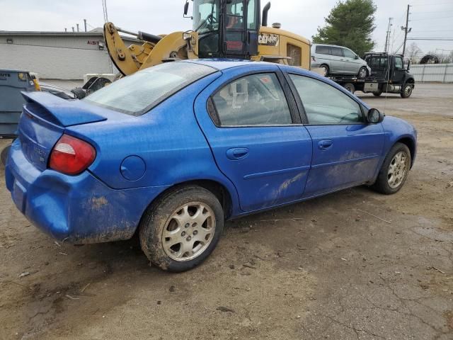
[[[140,72],[93,92],[84,101],[128,115],[142,115],[185,86],[216,72],[189,62],[168,62]]]

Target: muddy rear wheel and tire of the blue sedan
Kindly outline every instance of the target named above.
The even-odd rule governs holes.
[[[200,186],[183,186],[164,194],[145,212],[140,244],[155,266],[188,271],[212,253],[223,227],[224,212],[217,197]]]

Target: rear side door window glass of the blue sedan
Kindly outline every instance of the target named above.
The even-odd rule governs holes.
[[[221,126],[292,124],[285,93],[274,73],[237,79],[212,99]]]

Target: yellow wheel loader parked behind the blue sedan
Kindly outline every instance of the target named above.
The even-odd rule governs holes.
[[[309,69],[310,42],[306,38],[268,27],[270,3],[260,0],[193,0],[193,30],[168,35],[132,33],[105,23],[105,42],[111,60],[125,76],[147,67],[175,60],[197,58],[239,58],[265,60]],[[127,47],[120,32],[134,35],[142,45]]]

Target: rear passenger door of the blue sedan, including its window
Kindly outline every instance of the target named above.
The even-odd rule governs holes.
[[[312,143],[278,67],[247,70],[225,71],[197,97],[195,115],[241,209],[252,211],[302,198]]]

